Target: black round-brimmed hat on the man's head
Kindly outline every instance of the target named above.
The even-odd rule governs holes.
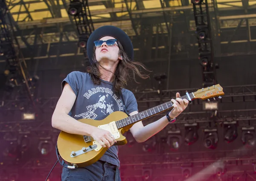
[[[94,41],[99,40],[105,36],[111,36],[111,37],[116,38],[116,40],[118,40],[122,44],[122,46],[125,50],[125,53],[133,61],[134,50],[133,50],[133,45],[131,43],[131,39],[120,28],[117,28],[115,26],[106,25],[106,26],[97,28],[95,31],[93,31],[93,33],[90,34],[90,37],[87,41],[87,55],[88,55],[88,58],[91,63],[93,62],[92,57],[93,57]]]

